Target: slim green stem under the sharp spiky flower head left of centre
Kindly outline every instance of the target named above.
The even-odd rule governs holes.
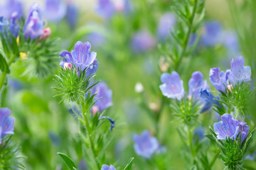
[[[84,103],[82,103],[82,111],[86,111],[86,106]],[[93,154],[93,157],[95,159],[95,163],[97,164],[97,169],[100,169],[100,163],[97,161],[97,154],[96,154],[96,150],[95,150],[95,145],[94,145],[94,142],[92,141],[92,130],[90,128],[90,124],[89,124],[89,121],[88,121],[88,118],[87,118],[87,112],[85,112],[85,114],[83,115],[84,118],[85,118],[85,127],[86,127],[86,130],[87,130],[87,137],[89,138],[89,141],[90,141],[90,147],[92,149],[92,154]]]

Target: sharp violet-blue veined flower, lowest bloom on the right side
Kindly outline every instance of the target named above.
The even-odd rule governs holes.
[[[245,140],[249,132],[249,126],[246,123],[236,120],[233,115],[225,113],[220,116],[222,121],[213,124],[215,134],[218,140],[225,140],[226,137],[230,137],[231,140],[235,140],[241,132],[241,142]]]

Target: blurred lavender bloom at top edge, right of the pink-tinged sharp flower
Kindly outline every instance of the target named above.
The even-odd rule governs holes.
[[[67,6],[60,0],[45,0],[43,15],[50,22],[58,22],[64,18]]]

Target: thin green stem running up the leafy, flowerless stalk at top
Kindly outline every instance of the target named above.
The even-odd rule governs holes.
[[[194,18],[196,16],[197,7],[198,7],[198,0],[195,0],[195,4],[193,6],[193,13],[192,13],[192,16],[191,16],[191,18],[189,19],[189,22],[188,22],[188,33],[186,34],[186,39],[185,39],[185,41],[183,43],[183,50],[181,52],[181,56],[178,59],[178,62],[176,63],[176,67],[175,67],[176,71],[178,70],[178,67],[181,64],[182,58],[186,54],[186,50],[187,50],[187,47],[188,47],[188,41],[189,41],[189,38],[190,38],[190,35],[191,35],[191,32],[192,32],[192,28],[193,28],[193,20],[194,20]]]

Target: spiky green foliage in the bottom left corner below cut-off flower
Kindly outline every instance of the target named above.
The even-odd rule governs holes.
[[[11,137],[5,137],[0,144],[0,169],[25,169],[22,160],[20,149],[12,144]]]

